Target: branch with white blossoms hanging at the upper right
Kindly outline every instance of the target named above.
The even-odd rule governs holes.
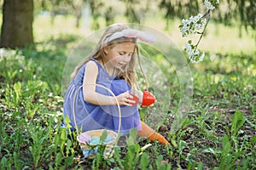
[[[205,14],[197,14],[196,16],[191,16],[189,20],[183,19],[182,25],[179,26],[183,37],[188,37],[189,34],[201,34],[195,45],[191,40],[185,43],[184,50],[186,54],[189,55],[189,61],[186,65],[189,65],[190,62],[198,63],[205,57],[205,53],[201,53],[197,48],[205,34],[207,24],[211,19],[211,11],[215,8],[212,3],[217,5],[219,2],[218,0],[213,0],[211,2],[209,2],[209,0],[205,0],[204,5],[207,8],[207,12]]]

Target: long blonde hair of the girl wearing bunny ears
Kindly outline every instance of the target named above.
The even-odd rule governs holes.
[[[108,37],[113,35],[113,33],[117,32],[117,31],[123,31],[128,28],[129,27],[124,24],[114,24],[112,26],[108,26],[107,30],[103,33],[102,38],[96,44],[96,48],[94,48],[92,53],[75,68],[75,70],[73,71],[73,73],[71,75],[71,78],[73,79],[73,77],[75,77],[77,75],[77,73],[79,72],[79,69],[86,62],[88,62],[91,57],[94,59],[102,59],[103,57],[105,57],[106,54],[104,53],[104,50],[103,50],[104,47],[107,46],[107,47],[111,48],[117,43],[134,42],[136,47],[134,49],[134,53],[131,57],[130,62],[127,65],[125,65],[125,68],[123,70],[119,70],[119,73],[118,73],[119,79],[125,79],[125,81],[128,82],[128,84],[131,86],[131,88],[134,88],[135,81],[136,81],[136,73],[135,73],[136,58],[135,58],[135,55],[137,54],[138,58],[139,58],[139,51],[137,48],[137,39],[134,37],[119,37],[117,39],[114,39],[111,42],[108,42],[108,44],[104,44],[104,41]]]

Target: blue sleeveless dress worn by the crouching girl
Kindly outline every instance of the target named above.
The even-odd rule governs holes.
[[[96,62],[98,67],[98,75],[96,84],[102,85],[110,89],[115,96],[131,91],[131,87],[125,80],[118,80],[116,76],[111,77],[108,72],[100,65],[96,59],[91,58]],[[93,105],[84,101],[83,95],[83,80],[86,63],[79,69],[78,74],[70,82],[65,95],[63,105],[63,118],[68,116],[70,122],[74,125],[76,121],[79,129],[82,132],[96,129],[109,129],[118,133],[119,129],[119,110],[116,105]],[[113,96],[108,90],[97,87],[96,92],[108,96]],[[120,106],[121,110],[121,134],[128,134],[131,128],[141,130],[140,115],[137,105]],[[74,120],[75,119],[75,120]]]

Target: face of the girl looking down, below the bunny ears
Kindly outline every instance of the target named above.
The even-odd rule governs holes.
[[[106,61],[108,62],[108,65],[111,65],[114,68],[124,67],[130,62],[131,56],[134,53],[134,48],[134,42],[117,43],[113,45],[113,47],[105,48],[104,51],[107,54]]]

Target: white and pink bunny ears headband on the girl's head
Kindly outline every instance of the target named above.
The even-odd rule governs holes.
[[[111,42],[119,37],[135,37],[139,40],[142,40],[143,42],[155,42],[155,37],[148,33],[143,31],[137,31],[135,29],[125,29],[123,31],[117,31],[113,33],[111,36],[107,37],[104,43]]]

